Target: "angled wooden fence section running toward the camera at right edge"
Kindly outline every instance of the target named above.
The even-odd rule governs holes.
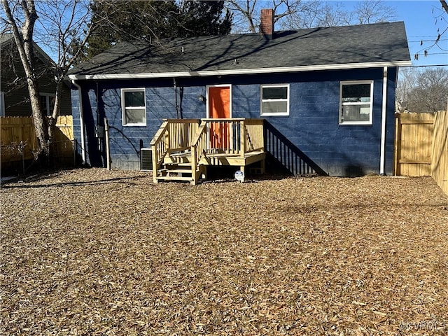
[[[448,194],[448,111],[435,116],[431,176]]]

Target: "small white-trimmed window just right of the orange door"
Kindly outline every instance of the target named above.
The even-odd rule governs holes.
[[[261,116],[289,116],[289,84],[261,85]]]

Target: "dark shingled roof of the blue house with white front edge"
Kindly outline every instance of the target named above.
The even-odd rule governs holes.
[[[403,22],[122,42],[71,79],[152,78],[409,65]]]

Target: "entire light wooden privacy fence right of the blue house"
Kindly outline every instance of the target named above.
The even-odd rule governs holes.
[[[432,176],[448,193],[448,112],[395,115],[395,175]]]

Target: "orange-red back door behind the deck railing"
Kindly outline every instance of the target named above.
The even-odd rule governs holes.
[[[214,119],[230,118],[230,86],[209,87],[209,116]],[[211,123],[211,148],[228,149],[229,141],[228,123]]]

